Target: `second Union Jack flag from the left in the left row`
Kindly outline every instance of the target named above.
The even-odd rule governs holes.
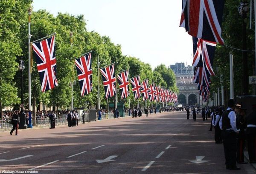
[[[87,95],[93,89],[91,53],[76,59],[75,64],[81,96]]]

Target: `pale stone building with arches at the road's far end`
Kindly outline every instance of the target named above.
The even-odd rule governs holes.
[[[199,96],[197,84],[193,81],[194,67],[185,66],[184,63],[175,63],[169,68],[173,70],[176,76],[176,85],[179,89],[178,104],[183,106],[202,106],[202,97]]]

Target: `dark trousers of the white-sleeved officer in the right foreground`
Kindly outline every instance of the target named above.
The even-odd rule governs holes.
[[[224,154],[227,168],[236,168],[236,133],[222,131]]]

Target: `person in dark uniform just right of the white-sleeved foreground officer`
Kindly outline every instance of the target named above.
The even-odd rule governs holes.
[[[244,143],[245,143],[245,125],[244,119],[246,115],[246,108],[239,108],[238,117],[236,118],[236,127],[239,130],[239,135],[237,135],[237,143],[236,143],[236,161],[239,164],[247,164],[244,161]]]

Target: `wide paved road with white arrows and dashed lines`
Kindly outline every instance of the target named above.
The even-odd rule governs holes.
[[[225,169],[222,144],[209,120],[186,120],[185,112],[120,118],[55,129],[0,133],[0,171],[41,174],[255,174]],[[31,155],[31,156],[30,156]],[[196,161],[196,156],[198,160]],[[204,157],[204,158],[203,158]],[[98,160],[98,161],[96,161]],[[205,163],[192,163],[206,160]],[[202,161],[202,162],[203,162]]]

